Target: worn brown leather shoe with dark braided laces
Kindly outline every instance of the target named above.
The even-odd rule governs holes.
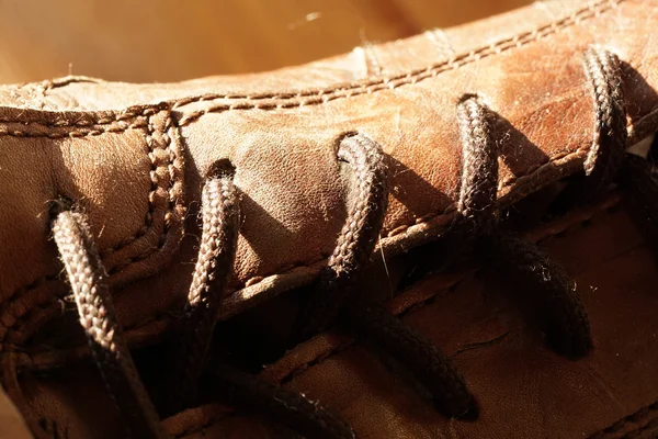
[[[0,88],[7,393],[38,438],[658,435],[657,10]]]

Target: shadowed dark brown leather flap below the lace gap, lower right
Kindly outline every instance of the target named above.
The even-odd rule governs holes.
[[[298,346],[262,376],[341,413],[360,439],[655,437],[658,260],[642,228],[617,193],[526,235],[578,284],[594,339],[580,360],[549,350],[509,281],[486,266],[429,277],[389,304],[455,362],[478,401],[478,420],[443,417],[399,367],[344,335]],[[261,418],[240,417],[206,406],[166,426],[186,439],[277,437]]]

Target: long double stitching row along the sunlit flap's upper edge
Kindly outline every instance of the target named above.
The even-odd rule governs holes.
[[[172,109],[181,108],[194,102],[214,101],[214,100],[241,100],[238,103],[223,103],[211,105],[207,109],[191,112],[180,120],[180,126],[185,126],[207,113],[217,113],[232,110],[281,110],[291,108],[300,108],[327,103],[329,101],[351,98],[360,94],[371,94],[381,90],[393,90],[405,85],[413,85],[428,78],[436,77],[444,71],[454,70],[467,64],[478,61],[491,55],[498,55],[512,48],[520,48],[526,44],[540,41],[548,35],[557,34],[560,31],[579,24],[583,20],[599,16],[602,13],[616,8],[625,0],[602,0],[588,4],[587,7],[574,12],[571,15],[556,20],[549,24],[540,26],[530,32],[523,32],[510,38],[504,38],[488,46],[458,55],[447,61],[430,65],[422,69],[412,70],[407,74],[398,74],[392,77],[376,78],[367,82],[358,82],[333,87],[320,90],[307,90],[298,93],[263,93],[263,94],[206,94],[195,98],[185,98],[173,103]],[[259,103],[259,101],[269,100],[274,102]]]

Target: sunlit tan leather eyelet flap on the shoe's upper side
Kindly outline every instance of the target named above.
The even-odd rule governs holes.
[[[0,360],[10,396],[42,437],[48,437],[43,418],[64,418],[78,434],[92,425],[83,427],[83,407],[66,408],[84,405],[67,393],[75,374],[42,376],[67,375],[87,356],[61,299],[67,285],[48,240],[50,201],[69,198],[88,214],[127,336],[135,346],[157,344],[186,295],[201,185],[217,160],[236,167],[242,196],[230,293],[218,316],[228,318],[307,284],[326,263],[345,217],[347,182],[336,158],[345,133],[365,133],[387,154],[393,190],[379,248],[393,258],[435,239],[455,215],[462,160],[455,104],[464,94],[477,93],[502,117],[492,135],[503,205],[582,170],[594,139],[582,67],[590,45],[624,63],[628,144],[657,131],[656,8],[654,0],[536,3],[446,30],[451,50],[427,34],[377,46],[377,76],[356,50],[269,74],[181,83],[69,77],[0,88]],[[646,311],[648,303],[637,306]],[[455,344],[464,330],[451,328]],[[508,380],[501,385],[521,385],[499,372]],[[345,373],[332,369],[327,378],[355,382]],[[487,393],[499,383],[476,385]],[[101,391],[84,385],[102,406]],[[510,393],[518,394],[502,394]],[[104,432],[114,425],[106,423]],[[436,423],[413,428],[442,431]]]

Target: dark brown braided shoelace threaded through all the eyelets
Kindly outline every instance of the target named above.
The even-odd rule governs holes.
[[[594,196],[613,180],[643,201],[649,216],[658,219],[658,183],[653,167],[627,155],[626,109],[620,61],[604,49],[590,48],[585,67],[592,85],[595,108],[593,146],[585,161],[586,179],[580,196]],[[592,347],[589,319],[574,281],[537,246],[497,232],[498,153],[490,125],[495,113],[476,95],[457,106],[463,144],[463,171],[458,219],[449,235],[470,252],[500,268],[515,288],[532,295],[542,317],[548,344],[557,352],[578,358]],[[327,267],[315,284],[296,324],[296,338],[311,337],[337,320],[404,364],[430,392],[436,408],[446,416],[474,419],[476,399],[456,368],[422,335],[413,331],[381,303],[354,285],[375,248],[388,200],[385,155],[363,134],[347,135],[338,158],[352,169],[345,225]],[[263,382],[229,367],[204,371],[215,316],[231,271],[239,232],[239,198],[231,172],[209,178],[203,189],[203,233],[183,316],[180,344],[174,356],[175,382],[166,412],[192,406],[197,398],[202,372],[213,391],[230,401],[274,415],[297,432],[314,438],[352,438],[350,426],[339,416],[300,393]],[[131,358],[104,286],[103,266],[83,214],[59,206],[53,235],[78,306],[94,361],[116,402],[126,432],[135,438],[164,438],[158,412],[150,401]],[[465,251],[462,249],[462,251]],[[504,262],[502,262],[504,261]],[[345,303],[350,300],[349,306]]]

